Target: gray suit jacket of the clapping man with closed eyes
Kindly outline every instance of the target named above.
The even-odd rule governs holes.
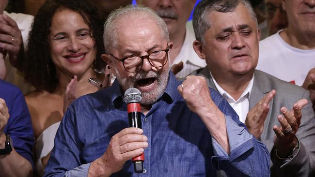
[[[189,75],[204,76],[208,86],[217,90],[206,67],[196,70]],[[312,102],[310,101],[310,93],[301,87],[255,70],[250,109],[271,89],[275,89],[277,93],[270,102],[270,109],[260,138],[260,141],[266,144],[271,154],[271,177],[315,177],[315,115]],[[279,161],[274,153],[271,153],[275,136],[272,127],[274,125],[280,126],[277,120],[277,116],[281,114],[280,108],[285,106],[290,110],[293,104],[300,99],[307,99],[309,103],[302,109],[301,124],[296,133],[299,139],[298,153],[291,160]]]

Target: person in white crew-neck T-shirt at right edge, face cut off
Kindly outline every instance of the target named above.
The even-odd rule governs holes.
[[[315,91],[315,1],[282,0],[288,28],[260,42],[257,69]]]

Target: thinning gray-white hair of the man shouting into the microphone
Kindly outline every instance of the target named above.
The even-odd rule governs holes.
[[[127,5],[126,7],[121,7],[116,9],[108,16],[104,24],[104,47],[105,52],[109,53],[110,49],[115,49],[117,46],[117,26],[120,25],[120,20],[123,18],[134,19],[142,17],[143,19],[152,19],[156,22],[157,27],[161,29],[161,32],[167,42],[170,42],[169,31],[164,20],[159,17],[152,9],[148,7],[140,7],[136,5]],[[123,24],[123,28],[128,27],[128,24]]]

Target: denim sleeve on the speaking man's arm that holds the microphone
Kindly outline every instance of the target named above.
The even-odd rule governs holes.
[[[44,177],[87,176],[89,165],[82,165],[76,114],[70,107],[60,123]],[[79,175],[82,174],[82,175]],[[85,174],[85,175],[83,175]]]

